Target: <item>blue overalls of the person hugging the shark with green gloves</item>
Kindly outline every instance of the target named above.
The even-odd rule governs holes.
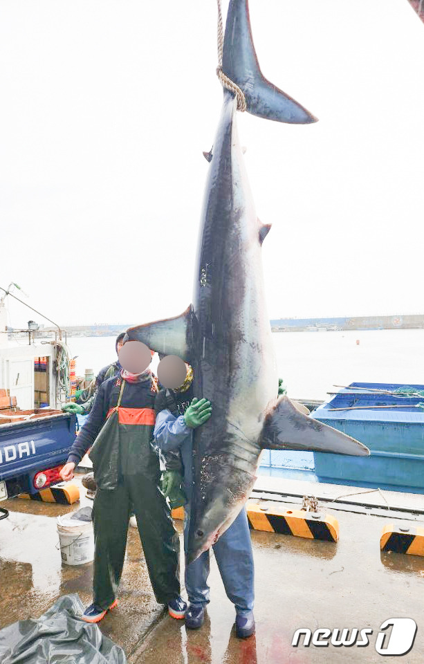
[[[182,415],[175,417],[168,409],[156,415],[154,437],[163,452],[181,452],[184,466],[184,488],[187,495],[184,519],[184,550],[187,551],[190,492],[192,488],[192,432]],[[216,563],[227,597],[237,614],[250,617],[255,600],[252,544],[246,508],[213,545]],[[185,566],[185,587],[192,605],[208,604],[210,553],[204,551],[194,562]]]

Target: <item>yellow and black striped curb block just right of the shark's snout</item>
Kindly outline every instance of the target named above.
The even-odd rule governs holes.
[[[326,542],[337,542],[339,538],[338,520],[329,514],[321,515],[304,510],[283,510],[275,505],[267,506],[264,509],[249,501],[248,519],[250,528],[255,531],[307,537],[308,540],[325,540]]]

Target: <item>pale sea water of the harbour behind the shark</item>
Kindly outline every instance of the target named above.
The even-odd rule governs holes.
[[[424,329],[276,332],[273,343],[292,398],[326,400],[335,385],[354,381],[424,384]],[[68,347],[78,376],[116,359],[115,337],[70,337]]]

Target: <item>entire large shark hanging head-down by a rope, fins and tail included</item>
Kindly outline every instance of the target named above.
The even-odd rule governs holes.
[[[243,91],[249,113],[268,120],[315,122],[261,74],[247,0],[231,0],[223,72]],[[194,430],[187,558],[195,560],[232,524],[255,483],[261,450],[316,450],[363,456],[350,436],[315,421],[286,396],[278,376],[261,266],[270,230],[255,212],[227,89],[205,187],[192,304],[181,315],[132,327],[128,340],[176,355],[194,369],[194,394],[212,403]]]

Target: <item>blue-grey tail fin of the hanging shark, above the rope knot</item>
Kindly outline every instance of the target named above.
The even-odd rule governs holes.
[[[230,0],[222,71],[243,91],[249,113],[267,120],[310,124],[315,118],[262,75],[250,28],[248,0]]]

